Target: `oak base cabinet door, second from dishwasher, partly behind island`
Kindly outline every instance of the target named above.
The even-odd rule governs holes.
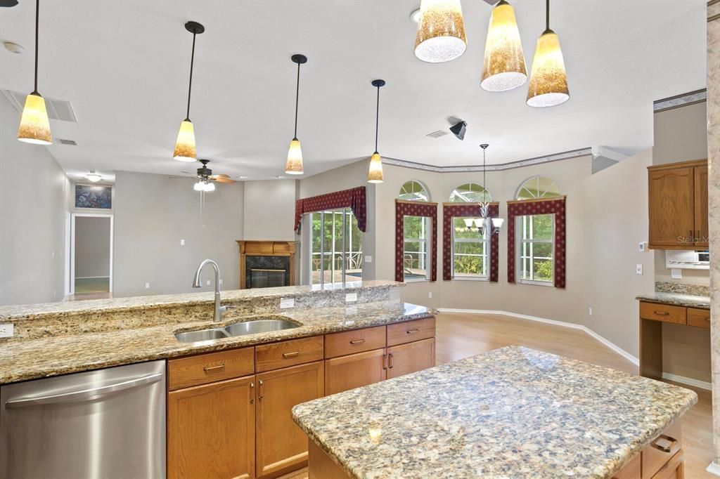
[[[323,361],[262,373],[257,378],[256,473],[277,473],[307,461],[307,436],[293,406],[323,397]]]

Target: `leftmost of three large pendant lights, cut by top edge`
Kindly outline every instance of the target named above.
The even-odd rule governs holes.
[[[467,48],[460,0],[420,1],[415,56],[428,63],[449,62]]]

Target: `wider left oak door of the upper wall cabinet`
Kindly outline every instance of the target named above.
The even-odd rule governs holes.
[[[651,170],[648,175],[650,246],[691,249],[696,232],[694,168]]]

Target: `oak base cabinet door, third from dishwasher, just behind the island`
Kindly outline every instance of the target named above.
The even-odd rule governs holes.
[[[384,349],[325,360],[325,395],[379,383],[386,378],[385,360]]]

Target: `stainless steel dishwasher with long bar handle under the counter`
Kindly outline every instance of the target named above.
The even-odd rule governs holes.
[[[165,361],[9,384],[0,406],[1,479],[165,477]]]

